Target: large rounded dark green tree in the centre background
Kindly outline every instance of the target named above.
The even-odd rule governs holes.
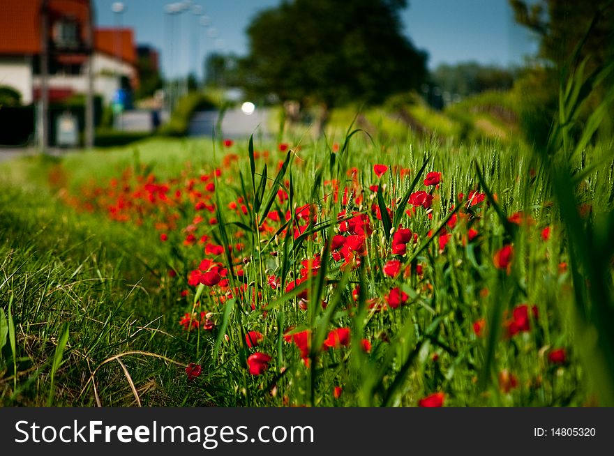
[[[405,0],[293,0],[258,14],[247,33],[248,91],[329,107],[382,102],[426,77],[426,53],[403,34]]]

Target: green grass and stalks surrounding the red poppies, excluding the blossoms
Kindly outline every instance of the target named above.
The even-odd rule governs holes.
[[[256,149],[276,150],[260,144]],[[589,149],[574,168],[589,167],[609,150],[606,146]],[[221,165],[228,152],[241,155],[238,169],[248,190],[241,188],[235,165]],[[322,282],[324,275],[316,275],[308,282],[310,296],[322,296],[329,302],[327,312],[317,305],[309,305],[306,312],[300,310],[295,294],[271,289],[266,278],[283,275],[284,271],[286,283],[297,277],[300,261],[320,252],[322,235],[334,234],[331,229],[335,225],[322,225],[324,230],[318,231],[315,241],[308,236],[301,243],[288,243],[283,236],[276,241],[264,233],[261,236],[266,241],[258,241],[255,232],[249,234],[239,225],[230,225],[238,222],[250,227],[257,222],[253,209],[247,215],[235,214],[227,204],[239,196],[252,201],[253,188],[260,186],[259,170],[267,162],[270,181],[260,198],[264,206],[269,193],[275,190],[271,188],[274,165],[283,158],[281,153],[267,160],[255,158],[253,185],[244,143],[235,144],[230,151],[218,147],[214,155],[210,141],[158,139],[114,151],[68,155],[61,160],[30,158],[10,163],[3,169],[3,187],[8,192],[3,193],[0,205],[1,257],[5,258],[0,268],[4,282],[0,300],[5,310],[12,301],[17,342],[15,354],[8,344],[2,351],[3,403],[44,404],[51,397],[51,404],[91,406],[98,395],[105,406],[135,405],[136,397],[143,405],[166,406],[415,405],[420,397],[436,390],[446,393],[447,404],[458,406],[581,405],[592,400],[587,371],[579,362],[580,349],[576,351],[574,345],[571,280],[568,273],[558,271],[560,262],[569,261],[569,251],[543,168],[530,151],[495,143],[457,147],[435,142],[407,142],[397,150],[372,144],[357,135],[331,167],[334,155],[327,151],[326,144],[304,141],[279,182],[290,192],[287,179],[292,174],[293,206],[315,202],[317,221],[325,223],[343,207],[340,199],[337,203],[331,197],[324,201],[324,195],[331,191],[324,181],[345,179],[345,169],[357,167],[359,182],[366,189],[378,181],[373,164],[409,167],[416,173],[427,155],[430,161],[426,171],[437,170],[443,176],[440,188],[433,192],[437,197],[433,218],[430,220],[426,211],[412,218],[403,216],[402,225],[418,233],[419,242],[400,258],[404,264],[421,265],[424,277],[412,275],[407,280],[394,280],[382,276],[380,268],[389,241],[382,222],[373,218],[375,231],[368,240],[362,267],[349,273],[343,273],[334,262],[321,267],[320,271],[327,269],[327,280],[339,280],[346,283],[345,287]],[[186,162],[190,163],[187,168]],[[502,213],[525,211],[534,219],[534,225],[523,225],[514,238],[509,237],[492,203],[490,208],[482,207],[479,212],[483,215],[472,221],[471,226],[480,233],[479,243],[463,246],[467,225],[459,222],[445,250],[440,252],[438,239],[430,242],[427,231],[437,229],[445,220],[458,192],[467,195],[469,190],[480,188],[476,162],[489,190],[497,195]],[[592,204],[591,218],[599,218],[599,213],[611,208],[614,181],[611,161],[608,163],[578,189],[581,202]],[[234,312],[227,312],[230,305],[227,310],[223,305],[218,307],[215,296],[203,294],[203,305],[214,313],[212,319],[217,327],[225,327],[225,331],[186,332],[177,322],[192,309],[197,290],[187,287],[185,278],[207,257],[202,247],[181,245],[181,227],[193,218],[193,205],[187,204],[180,211],[181,222],[177,230],[169,232],[170,242],[160,243],[153,226],[160,214],[149,213],[140,227],[130,222],[112,222],[103,206],[93,212],[78,205],[77,209],[66,206],[66,193],[87,199],[80,189],[109,188],[110,178],[121,176],[130,167],[144,175],[155,174],[159,183],[166,181],[172,188],[185,189],[189,176],[210,173],[216,166],[222,168],[216,198],[223,210],[218,219],[225,225],[204,225],[198,232],[211,238],[234,238],[239,231],[246,233],[248,237],[242,238],[246,244],[244,256],[251,261],[244,266],[244,282],[264,286],[258,286],[262,296],[255,301],[252,286],[239,294]],[[177,176],[183,177],[173,181]],[[403,195],[414,177],[410,174],[400,180],[389,169],[382,181],[386,184],[384,204],[390,204],[391,192],[396,197]],[[423,179],[418,176],[414,190],[424,189]],[[370,194],[366,189],[366,201],[356,207],[359,211],[370,212]],[[278,204],[274,202],[273,208]],[[260,212],[263,210],[264,207]],[[553,234],[544,242],[540,232],[546,225],[553,227]],[[512,240],[516,260],[508,275],[493,267],[492,257]],[[274,250],[278,252],[276,257],[270,254]],[[227,264],[223,256],[219,261]],[[177,278],[167,276],[170,269],[177,271]],[[361,297],[354,304],[350,293],[358,282]],[[384,313],[368,312],[366,302],[383,296],[395,283],[410,296],[411,304]],[[190,289],[187,298],[179,296],[183,289]],[[488,290],[487,296],[484,289]],[[313,301],[319,302],[320,298]],[[250,310],[252,302],[255,311]],[[501,312],[509,312],[520,303],[537,305],[538,321],[534,321],[529,333],[510,340],[493,340],[495,356],[485,372],[484,350],[488,346],[484,344],[488,339],[476,337],[472,324],[480,318],[488,321],[493,307],[501,306]],[[265,310],[258,310],[261,307]],[[283,341],[283,332],[291,326],[314,328],[320,334],[319,340],[331,327],[348,326],[352,328],[353,347],[366,337],[373,349],[368,355],[345,348],[314,351],[310,355],[311,367],[306,368],[297,349]],[[246,330],[263,333],[260,349],[273,356],[271,368],[263,376],[253,377],[246,371],[245,359],[253,351],[241,342]],[[66,333],[66,347],[61,350],[59,341]],[[314,343],[314,347],[317,345]],[[566,365],[548,365],[546,354],[552,347],[567,349]],[[121,356],[130,351],[147,354]],[[438,358],[433,361],[435,355]],[[197,381],[186,381],[181,365],[190,362],[204,367]],[[96,391],[89,381],[95,371]],[[504,371],[518,377],[518,386],[509,393],[497,386],[497,377]],[[478,381],[483,377],[484,381]],[[343,386],[338,400],[332,395],[334,386]]]

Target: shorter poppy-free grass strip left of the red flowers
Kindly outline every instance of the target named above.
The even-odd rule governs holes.
[[[25,161],[25,169],[36,168]],[[6,310],[12,301],[16,333],[15,350],[0,337],[2,404],[96,405],[91,383],[82,393],[93,370],[135,349],[147,354],[120,360],[143,404],[211,404],[215,388],[177,388],[183,368],[161,358],[183,361],[186,342],[167,333],[177,300],[158,292],[166,278],[145,266],[156,250],[124,227],[101,229],[100,218],[66,211],[44,186],[25,187],[5,187],[0,203],[0,302]],[[62,335],[68,339],[60,349]],[[105,406],[135,404],[117,361],[93,380]]]

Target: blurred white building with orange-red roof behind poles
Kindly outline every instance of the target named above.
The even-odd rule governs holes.
[[[10,86],[30,104],[40,96],[43,0],[1,0],[0,86]],[[89,0],[47,0],[50,101],[87,91],[87,21]],[[138,84],[132,29],[95,29],[93,33],[93,89],[110,102],[121,77]]]

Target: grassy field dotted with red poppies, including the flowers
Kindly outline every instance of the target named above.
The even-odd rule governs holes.
[[[594,245],[611,146],[566,168]],[[611,404],[525,146],[153,139],[0,174],[3,405]]]

